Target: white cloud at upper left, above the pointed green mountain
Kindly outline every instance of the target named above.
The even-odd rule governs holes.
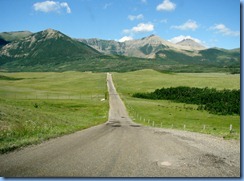
[[[71,13],[71,9],[66,2],[57,2],[57,1],[44,1],[37,2],[33,5],[35,11],[40,11],[44,13],[56,12],[60,13],[60,11],[64,8],[67,13]]]

